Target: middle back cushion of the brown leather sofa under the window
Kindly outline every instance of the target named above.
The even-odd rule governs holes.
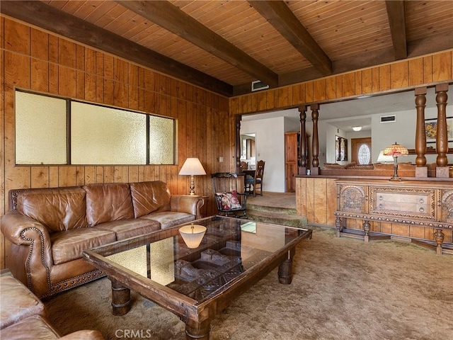
[[[84,189],[88,226],[134,217],[128,183],[88,184]]]

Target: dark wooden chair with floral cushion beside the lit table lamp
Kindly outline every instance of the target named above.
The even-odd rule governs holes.
[[[244,193],[238,193],[238,181],[241,181],[238,175],[217,172],[211,175],[211,179],[218,214],[247,218],[247,196]]]

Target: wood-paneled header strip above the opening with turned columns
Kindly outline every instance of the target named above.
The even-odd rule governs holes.
[[[230,99],[230,113],[238,115],[282,110],[302,104],[327,103],[439,82],[453,82],[453,50],[236,96]],[[321,117],[322,105],[319,109]]]

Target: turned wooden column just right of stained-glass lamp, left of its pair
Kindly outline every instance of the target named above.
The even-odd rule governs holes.
[[[415,89],[415,109],[417,111],[417,125],[415,128],[415,177],[428,177],[426,166],[426,134],[425,134],[425,107],[426,87]]]

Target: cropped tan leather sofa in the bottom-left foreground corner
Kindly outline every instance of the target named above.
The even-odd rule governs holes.
[[[103,340],[99,331],[80,330],[60,336],[46,318],[45,306],[25,285],[9,275],[0,276],[0,338]]]

